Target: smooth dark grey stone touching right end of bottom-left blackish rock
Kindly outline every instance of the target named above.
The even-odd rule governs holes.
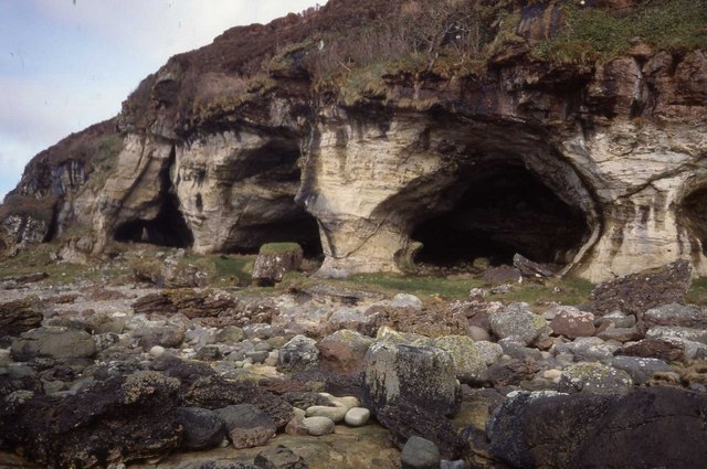
[[[178,407],[176,419],[184,428],[182,447],[186,449],[215,448],[225,438],[225,424],[212,411],[199,407]]]

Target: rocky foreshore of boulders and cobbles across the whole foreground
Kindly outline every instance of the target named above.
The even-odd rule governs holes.
[[[6,281],[0,467],[703,467],[689,281],[677,263],[542,310]]]

